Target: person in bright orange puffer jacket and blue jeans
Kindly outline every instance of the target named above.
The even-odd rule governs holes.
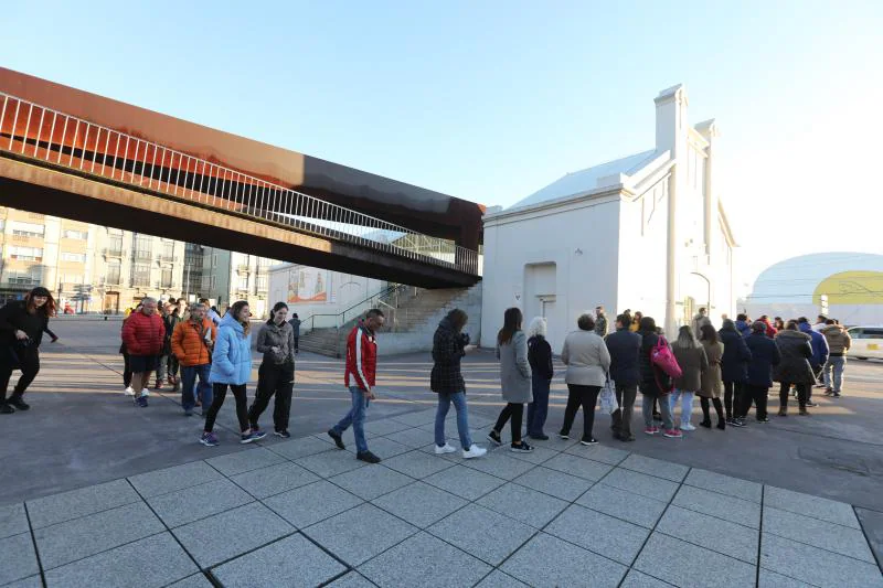
[[[172,353],[181,364],[181,407],[184,416],[193,415],[193,407],[212,406],[212,384],[209,376],[212,368],[212,349],[216,328],[205,318],[205,307],[195,303],[190,307],[188,320],[179,322],[172,332]],[[196,385],[199,378],[199,385]],[[195,398],[193,389],[196,389]],[[203,408],[204,410],[204,408]]]

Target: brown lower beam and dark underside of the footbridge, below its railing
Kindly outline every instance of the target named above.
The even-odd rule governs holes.
[[[35,213],[371,276],[423,288],[471,286],[461,271],[0,157],[0,203]]]

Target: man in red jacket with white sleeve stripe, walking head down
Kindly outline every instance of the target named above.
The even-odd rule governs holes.
[[[374,378],[377,372],[377,342],[375,333],[385,321],[383,312],[371,309],[347,338],[347,371],[343,375],[347,387],[352,395],[352,408],[343,419],[328,430],[338,449],[347,449],[343,445],[343,431],[352,425],[355,435],[355,457],[369,463],[379,463],[380,458],[368,450],[365,441],[365,411],[374,396]]]

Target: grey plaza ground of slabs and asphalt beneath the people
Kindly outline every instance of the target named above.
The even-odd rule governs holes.
[[[467,461],[433,452],[426,357],[381,359],[366,466],[323,435],[340,362],[301,359],[298,438],[240,446],[230,399],[203,448],[175,395],[119,394],[118,323],[57,322],[33,409],[2,420],[0,586],[883,587],[880,364],[811,418],[621,443],[598,414],[599,446]],[[496,363],[464,371],[486,445]]]

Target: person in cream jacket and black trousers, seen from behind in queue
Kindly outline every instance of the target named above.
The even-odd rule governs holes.
[[[598,441],[592,435],[595,425],[595,405],[598,393],[607,382],[610,371],[610,353],[595,331],[595,320],[586,313],[576,320],[578,331],[571,332],[564,339],[561,361],[567,366],[564,382],[567,384],[567,406],[564,408],[564,424],[558,437],[570,439],[576,411],[583,407],[583,445],[595,445]]]

